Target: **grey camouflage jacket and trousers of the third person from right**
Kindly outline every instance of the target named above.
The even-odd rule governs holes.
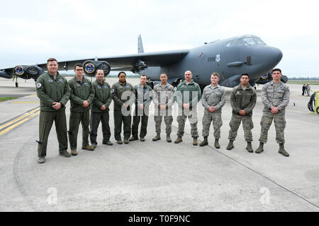
[[[222,107],[225,105],[225,90],[220,85],[212,86],[207,85],[203,90],[201,102],[205,108],[203,116],[203,137],[209,135],[209,127],[213,121],[214,137],[220,138],[220,127],[223,125],[221,117]],[[215,112],[209,112],[208,108],[214,107]]]

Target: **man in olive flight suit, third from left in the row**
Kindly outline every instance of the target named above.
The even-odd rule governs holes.
[[[95,148],[97,145],[96,136],[101,121],[103,140],[102,144],[113,145],[110,141],[111,129],[108,124],[110,119],[109,106],[112,102],[111,86],[104,81],[103,69],[96,69],[96,80],[92,83],[95,90],[95,97],[91,108],[91,121],[90,121],[90,140],[91,145]]]

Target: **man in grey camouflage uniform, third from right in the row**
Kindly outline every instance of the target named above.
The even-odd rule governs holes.
[[[205,107],[203,116],[203,142],[199,145],[201,147],[208,145],[209,127],[213,121],[215,147],[220,148],[218,140],[220,138],[220,127],[223,125],[221,110],[225,105],[225,90],[218,85],[219,74],[214,72],[211,74],[211,85],[207,85],[203,90],[201,102]]]

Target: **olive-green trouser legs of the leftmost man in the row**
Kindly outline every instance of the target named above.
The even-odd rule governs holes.
[[[67,118],[65,117],[65,110],[60,112],[40,111],[38,157],[47,155],[47,138],[53,121],[55,121],[55,131],[57,131],[59,152],[65,153],[67,151]]]

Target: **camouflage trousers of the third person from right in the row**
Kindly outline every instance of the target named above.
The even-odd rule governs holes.
[[[203,116],[203,137],[209,135],[209,127],[211,126],[211,121],[213,121],[214,137],[216,139],[219,139],[220,127],[223,125],[221,112],[208,112],[207,110],[205,110]]]

